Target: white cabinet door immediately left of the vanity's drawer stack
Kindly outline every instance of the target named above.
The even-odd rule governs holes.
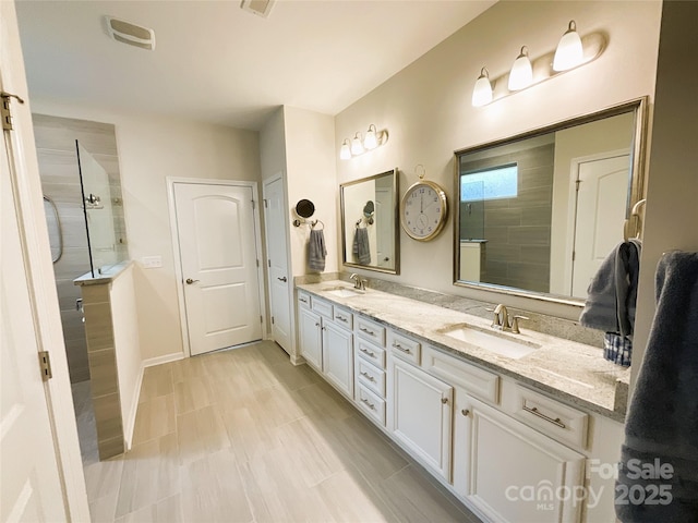
[[[353,336],[325,321],[323,326],[323,374],[339,391],[353,398]]]

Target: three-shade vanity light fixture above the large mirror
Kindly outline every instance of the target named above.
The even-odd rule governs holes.
[[[472,90],[472,106],[486,106],[589,63],[601,56],[605,45],[604,34],[591,33],[581,37],[577,33],[577,23],[570,20],[556,50],[530,59],[528,48],[524,46],[512,70],[495,78],[490,78],[489,71],[483,68]],[[491,96],[488,94],[488,87],[491,89]]]

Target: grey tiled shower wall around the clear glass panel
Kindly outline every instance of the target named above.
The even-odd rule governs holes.
[[[89,379],[83,315],[75,309],[75,301],[81,295],[80,288],[73,284],[75,278],[89,271],[75,139],[80,141],[109,175],[115,229],[117,239],[121,239],[117,248],[123,251],[120,259],[124,259],[125,227],[117,138],[111,124],[44,114],[34,114],[33,121],[41,187],[44,195],[56,204],[63,234],[63,255],[53,264],[53,272],[70,380],[75,384]]]

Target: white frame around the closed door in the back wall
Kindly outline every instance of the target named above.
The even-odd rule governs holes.
[[[177,301],[179,305],[179,323],[182,336],[182,346],[184,349],[184,357],[191,357],[192,350],[189,341],[189,324],[186,321],[186,306],[184,302],[184,276],[182,272],[182,258],[180,256],[179,230],[177,229],[177,206],[174,204],[174,185],[178,183],[192,185],[222,185],[252,188],[252,214],[254,219],[254,247],[255,256],[260,260],[257,264],[257,293],[260,295],[260,309],[262,311],[262,335],[266,333],[266,296],[264,294],[264,271],[263,271],[263,253],[262,253],[262,233],[260,221],[260,197],[257,194],[257,182],[243,180],[215,180],[207,178],[178,178],[167,177],[167,203],[170,212],[170,234],[172,236],[172,255],[174,259],[174,277],[177,279]]]

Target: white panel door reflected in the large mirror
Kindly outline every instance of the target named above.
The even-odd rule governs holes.
[[[623,240],[630,156],[579,163],[571,295],[586,296],[589,282]]]

